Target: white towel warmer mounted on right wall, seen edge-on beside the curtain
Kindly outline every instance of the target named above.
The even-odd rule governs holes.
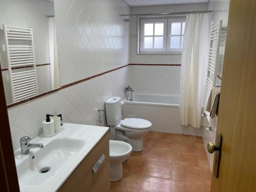
[[[205,111],[210,91],[212,87],[216,86],[218,65],[219,65],[219,54],[220,54],[220,44],[221,44],[221,32],[225,31],[226,28],[222,27],[222,20],[219,24],[211,26],[210,33],[210,51],[209,51],[209,60],[207,68],[207,81],[206,81],[206,93],[205,93],[205,104],[204,104],[204,114],[207,117],[209,122],[210,113]]]

